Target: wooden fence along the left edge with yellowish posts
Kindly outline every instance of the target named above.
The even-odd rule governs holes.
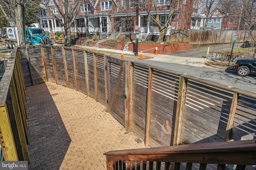
[[[0,85],[1,160],[28,161],[25,82],[14,49]]]

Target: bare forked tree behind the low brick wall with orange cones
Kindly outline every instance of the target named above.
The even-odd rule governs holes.
[[[160,9],[162,6],[160,6],[159,2],[157,0],[153,0],[153,6],[151,0],[138,0],[137,7],[142,10],[146,11],[148,16],[151,18],[151,22],[155,23],[157,27],[160,30],[160,34],[158,37],[158,43],[161,43],[164,41],[164,35],[166,33],[166,30],[168,26],[172,23],[172,19],[174,17],[174,12],[177,5],[177,0],[172,0],[170,5],[168,6],[170,13],[168,14],[167,21],[165,23],[162,23],[160,20]],[[154,13],[153,13],[154,12]],[[146,19],[147,20],[147,19]]]

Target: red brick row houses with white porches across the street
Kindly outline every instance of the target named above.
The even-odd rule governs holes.
[[[84,0],[76,20],[72,24],[71,31],[86,33],[88,29],[90,33],[113,33],[139,30],[141,33],[153,35],[159,33],[159,28],[152,23],[148,13],[136,5],[140,2],[142,0]],[[164,24],[170,15],[172,1],[156,0],[156,2],[160,21]],[[195,2],[191,0],[177,0],[172,23],[168,26],[166,35],[170,33],[170,29],[190,29],[191,12],[189,11],[192,10],[194,4]],[[150,13],[155,15],[155,8],[152,8],[153,1],[148,1],[147,5],[148,8],[152,9]],[[62,19],[53,2],[48,4],[48,10],[51,10],[59,19]],[[41,27],[45,31],[53,33],[56,31],[64,32],[64,28],[61,27],[61,24],[48,10],[41,6]],[[138,23],[136,23],[136,10],[137,14],[139,14]]]

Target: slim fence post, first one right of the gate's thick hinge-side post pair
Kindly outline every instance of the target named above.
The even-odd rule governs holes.
[[[152,95],[152,68],[149,67],[148,73],[148,94],[147,94],[147,113],[146,113],[146,135],[145,135],[145,147],[149,146],[150,136],[150,112],[151,112],[151,95]]]

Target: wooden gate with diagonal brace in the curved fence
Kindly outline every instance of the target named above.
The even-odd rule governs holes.
[[[105,58],[106,109],[126,127],[128,88],[126,62],[106,56]]]

